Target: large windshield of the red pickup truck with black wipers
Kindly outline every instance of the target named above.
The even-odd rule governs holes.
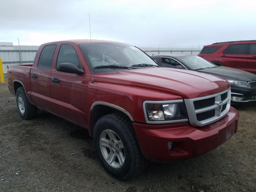
[[[127,44],[92,43],[79,47],[92,73],[158,66],[144,52]]]

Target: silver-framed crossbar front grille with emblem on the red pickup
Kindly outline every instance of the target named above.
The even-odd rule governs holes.
[[[190,124],[204,126],[219,120],[228,113],[230,100],[230,88],[210,96],[185,99]]]

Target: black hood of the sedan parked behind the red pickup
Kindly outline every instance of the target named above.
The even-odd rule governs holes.
[[[237,80],[237,81],[256,81],[256,75],[250,72],[246,72],[239,69],[230,67],[214,67],[210,69],[198,70],[198,72],[204,72],[208,74],[218,75],[224,79]]]

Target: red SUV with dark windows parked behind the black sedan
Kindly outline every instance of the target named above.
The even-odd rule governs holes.
[[[219,66],[256,73],[256,40],[206,45],[198,56]]]

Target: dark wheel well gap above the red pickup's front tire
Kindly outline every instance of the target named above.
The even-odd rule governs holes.
[[[100,104],[94,106],[94,108],[91,111],[91,115],[90,115],[90,135],[93,136],[94,125],[101,117],[103,117],[107,114],[116,113],[116,112],[123,114],[128,119],[130,119],[124,112],[122,112],[118,109],[112,108],[110,106],[100,105]]]

